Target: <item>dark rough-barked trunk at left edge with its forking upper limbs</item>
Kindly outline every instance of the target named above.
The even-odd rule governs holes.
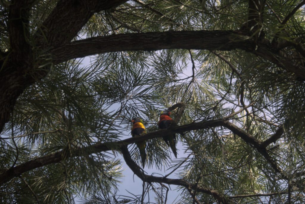
[[[34,2],[14,0],[9,6],[10,50],[1,53],[4,60],[1,58],[0,67],[0,133],[23,90],[48,74],[47,67],[38,68],[46,61],[34,60],[39,59],[35,56],[34,45],[38,45],[35,49],[40,55],[45,50],[70,42],[93,13],[110,9],[126,0],[60,0],[33,40],[30,39],[28,18]]]

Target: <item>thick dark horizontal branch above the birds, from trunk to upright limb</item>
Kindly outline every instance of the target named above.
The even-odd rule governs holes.
[[[249,36],[240,31],[166,31],[129,33],[87,38],[53,49],[53,62],[99,53],[160,49],[254,49]]]

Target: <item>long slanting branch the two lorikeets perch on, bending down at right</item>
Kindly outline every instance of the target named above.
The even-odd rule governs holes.
[[[14,168],[8,169],[4,173],[0,174],[0,185],[8,182],[13,177],[16,177],[24,172],[30,171],[38,167],[46,166],[48,164],[58,163],[66,158],[82,156],[84,152],[86,152],[87,154],[93,154],[102,151],[118,150],[124,145],[132,144],[139,141],[149,140],[156,137],[163,137],[173,133],[184,133],[192,130],[206,129],[216,126],[223,126],[230,129],[233,133],[235,133],[240,138],[242,138],[242,140],[244,140],[246,143],[253,146],[253,148],[257,149],[257,151],[264,156],[266,161],[271,165],[271,167],[275,170],[275,172],[279,173],[282,176],[282,178],[287,179],[287,176],[285,176],[282,173],[282,169],[279,168],[276,161],[274,161],[274,159],[271,158],[271,156],[267,153],[266,148],[261,148],[261,143],[259,140],[257,140],[252,135],[246,133],[244,130],[240,129],[239,127],[235,126],[233,123],[225,119],[219,119],[219,120],[191,123],[183,126],[173,126],[170,129],[162,129],[155,132],[147,133],[141,137],[132,137],[120,141],[94,144],[88,147],[71,150],[70,154],[67,154],[66,151],[59,151],[54,154],[38,157],[28,162],[25,162],[19,166],[15,166]],[[158,181],[158,182],[162,182],[162,181]]]

